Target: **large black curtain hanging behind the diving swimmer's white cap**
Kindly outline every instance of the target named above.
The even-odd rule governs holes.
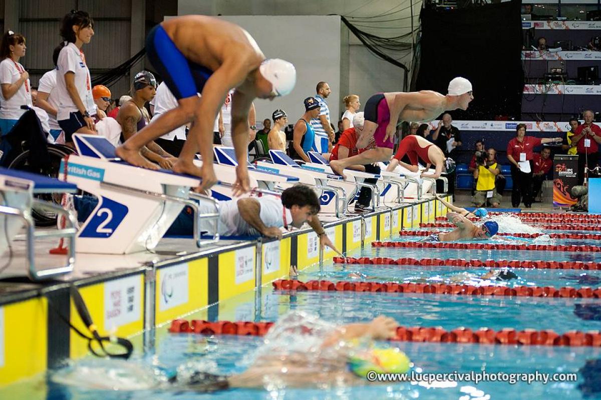
[[[462,76],[472,83],[474,101],[454,119],[520,117],[522,108],[521,2],[512,0],[459,10],[421,10],[421,58],[417,90],[447,94]]]

